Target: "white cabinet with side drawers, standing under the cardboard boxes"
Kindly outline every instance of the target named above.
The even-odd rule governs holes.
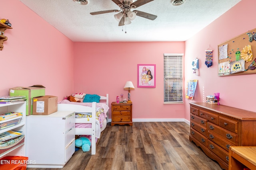
[[[28,168],[63,168],[75,152],[75,113],[57,111],[27,116]]]

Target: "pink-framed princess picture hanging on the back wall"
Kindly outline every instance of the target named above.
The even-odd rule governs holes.
[[[156,64],[138,64],[137,87],[156,87]]]

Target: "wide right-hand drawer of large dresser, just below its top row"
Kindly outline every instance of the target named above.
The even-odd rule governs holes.
[[[220,138],[238,145],[238,135],[236,133],[232,133],[226,129],[223,129],[222,127],[219,127],[218,125],[208,122],[208,134],[211,133],[218,134]]]

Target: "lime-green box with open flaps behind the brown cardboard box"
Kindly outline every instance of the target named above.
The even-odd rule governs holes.
[[[30,87],[14,87],[9,90],[10,96],[26,96],[26,115],[32,115],[32,100],[34,97],[44,96],[45,87],[42,85],[34,85]]]

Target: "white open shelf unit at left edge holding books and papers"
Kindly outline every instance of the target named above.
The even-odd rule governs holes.
[[[17,145],[14,147],[10,147],[9,149],[0,150],[0,158],[3,156],[25,156],[25,141],[26,141],[26,102],[13,102],[11,104],[0,104],[0,113],[8,113],[8,112],[22,112],[23,115],[21,117],[14,117],[12,119],[0,121],[1,129],[0,134],[6,131],[22,131],[24,133],[25,138],[22,139]],[[21,119],[20,119],[21,118]],[[10,126],[5,128],[4,124],[8,121],[14,121],[16,119],[20,119],[20,123],[14,126]]]

